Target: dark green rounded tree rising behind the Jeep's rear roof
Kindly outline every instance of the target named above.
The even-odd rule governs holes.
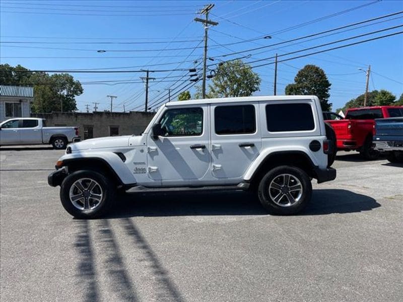
[[[305,65],[298,71],[294,83],[286,86],[286,95],[314,95],[320,100],[322,111],[329,111],[328,103],[330,82],[322,68],[315,65]]]

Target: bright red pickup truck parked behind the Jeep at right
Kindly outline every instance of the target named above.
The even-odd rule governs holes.
[[[351,108],[346,117],[339,120],[326,120],[336,134],[338,150],[357,150],[367,160],[374,160],[379,153],[372,147],[376,118],[401,117],[403,106],[374,106]]]

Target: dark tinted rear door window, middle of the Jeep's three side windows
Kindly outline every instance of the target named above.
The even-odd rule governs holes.
[[[217,106],[214,119],[217,134],[247,134],[256,131],[253,105]]]

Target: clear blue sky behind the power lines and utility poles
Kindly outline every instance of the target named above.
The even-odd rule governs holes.
[[[249,54],[251,56],[243,58],[244,61],[270,58],[276,52],[279,55],[285,54],[403,24],[401,14],[363,24],[371,25],[354,30],[323,38],[315,37],[317,39],[311,41],[299,40],[294,44],[285,43],[223,56],[403,11],[403,2],[2,0],[1,62],[40,70],[167,70],[200,67],[204,29],[193,19],[198,17],[196,12],[209,3],[215,4],[210,19],[219,22],[218,26],[209,30],[211,39],[208,56],[214,59],[209,60],[209,64]],[[366,4],[367,6],[362,8],[340,13]],[[298,26],[332,14],[335,16]],[[379,23],[380,21],[385,22]],[[375,22],[378,23],[374,24]],[[402,27],[311,51],[284,55],[282,59],[399,31],[403,31]],[[267,35],[272,38],[262,38]],[[97,50],[106,52],[99,53]],[[269,62],[273,62],[273,59],[251,65]],[[333,109],[342,107],[347,101],[364,92],[365,72],[358,68],[366,69],[368,64],[371,64],[373,70],[370,90],[386,89],[397,98],[403,93],[401,34],[279,63],[278,94],[284,94],[285,86],[293,82],[298,69],[305,64],[315,64],[327,74],[332,84],[330,102],[333,103]],[[265,65],[253,70],[262,78],[260,91],[255,95],[273,95],[274,65]],[[90,105],[92,110],[93,102],[100,103],[98,110],[109,109],[107,95],[117,96],[113,111],[123,111],[123,105],[125,110],[144,110],[144,84],[141,83],[140,77],[145,77],[145,72],[71,73],[75,79],[87,83],[83,84],[84,93],[77,97],[79,111],[85,111],[86,104]],[[150,77],[155,78],[150,83],[151,108],[157,108],[158,103],[167,98],[167,89],[173,89],[172,94],[176,95],[182,87],[191,84],[188,74],[186,70],[150,73]],[[97,81],[106,81],[106,84],[122,81],[132,83],[89,83]],[[198,84],[201,85],[201,82]],[[177,88],[174,89],[175,87]],[[190,91],[193,93],[194,88]]]

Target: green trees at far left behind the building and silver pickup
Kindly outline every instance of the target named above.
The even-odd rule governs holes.
[[[77,110],[75,97],[83,93],[79,81],[68,73],[49,75],[46,72],[17,72],[29,70],[21,65],[0,65],[0,83],[2,85],[26,85],[34,87],[32,112],[48,113],[52,111],[72,112]]]

